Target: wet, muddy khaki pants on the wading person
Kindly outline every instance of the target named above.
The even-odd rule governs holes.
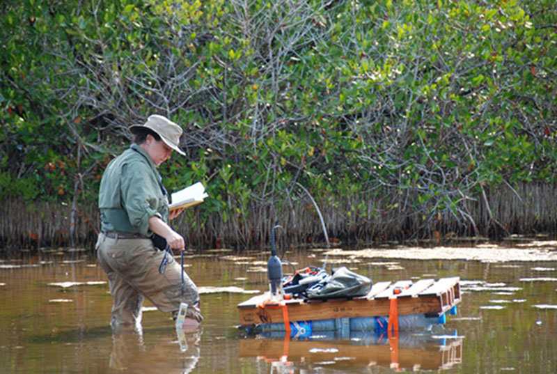
[[[111,326],[135,325],[141,328],[141,306],[147,297],[159,311],[173,313],[180,302],[188,304],[187,317],[201,322],[197,287],[171,254],[166,256],[166,270],[159,273],[164,251],[150,239],[111,238],[103,233],[97,240],[99,265],[109,279],[113,299]],[[183,288],[183,295],[182,295]]]

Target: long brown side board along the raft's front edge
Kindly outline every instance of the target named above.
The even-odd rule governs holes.
[[[265,308],[239,308],[242,325],[258,325],[260,323],[283,322],[283,311],[280,306]],[[442,307],[437,295],[423,297],[403,297],[398,300],[398,314],[441,313]],[[389,298],[351,299],[327,302],[301,303],[288,305],[290,321],[326,320],[329,318],[373,317],[389,315]]]

